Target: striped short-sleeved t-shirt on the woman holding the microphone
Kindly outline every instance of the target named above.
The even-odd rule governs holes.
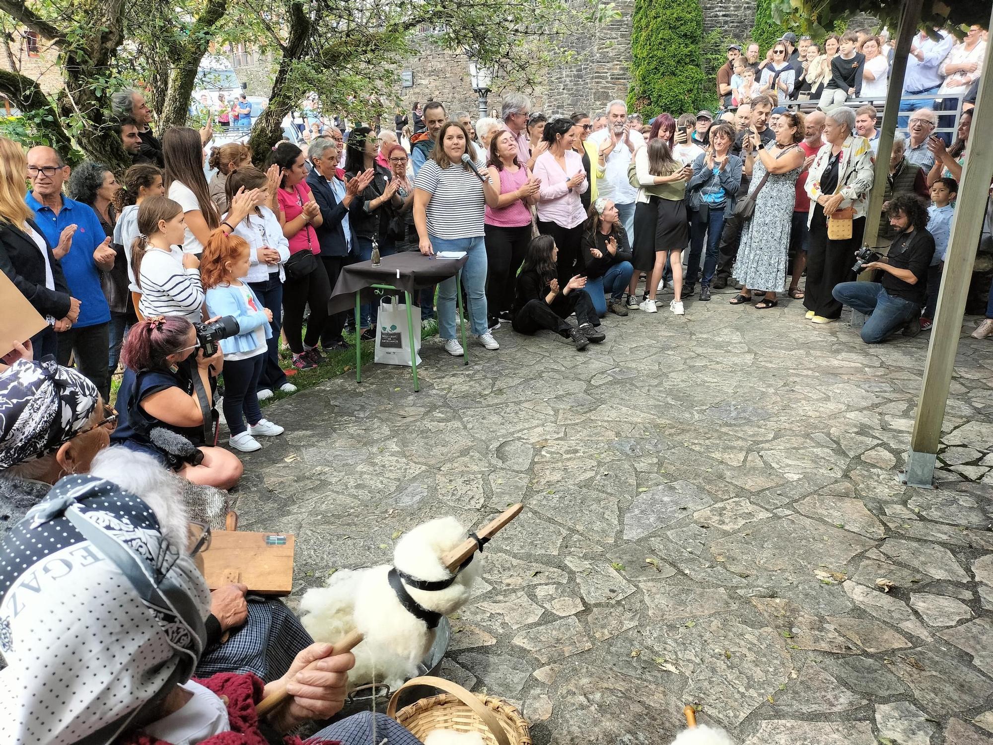
[[[429,235],[451,239],[486,233],[483,183],[461,163],[442,168],[434,160],[426,161],[417,172],[414,187],[431,195],[426,210]]]

